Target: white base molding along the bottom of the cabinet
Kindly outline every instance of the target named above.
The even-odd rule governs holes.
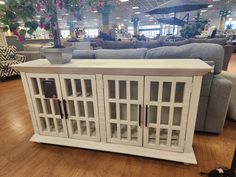
[[[61,137],[51,137],[43,136],[39,134],[34,134],[30,139],[32,142],[36,143],[46,143],[70,147],[79,147],[92,150],[116,152],[129,155],[137,155],[143,157],[150,157],[156,159],[170,160],[176,162],[183,162],[185,164],[197,164],[197,160],[194,154],[193,149],[191,152],[170,152],[156,149],[149,149],[144,147],[129,146],[129,145],[120,145],[104,142],[93,142],[93,141],[83,141],[70,138],[61,138]]]

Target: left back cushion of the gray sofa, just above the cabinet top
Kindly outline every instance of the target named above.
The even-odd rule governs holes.
[[[144,59],[147,49],[95,50],[97,59]]]

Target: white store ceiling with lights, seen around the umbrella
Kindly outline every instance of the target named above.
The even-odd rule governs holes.
[[[189,0],[186,0],[188,2]],[[236,18],[236,0],[192,0],[198,3],[210,2],[213,7],[207,8],[206,12],[202,12],[202,16],[208,19],[219,18],[219,11],[223,8],[232,11],[230,17]],[[127,2],[120,2],[120,0],[108,0],[108,3],[113,5],[113,10],[110,14],[110,24],[127,24],[132,25],[131,18],[138,16],[140,23],[143,25],[150,25],[157,23],[156,18],[169,17],[167,15],[159,16],[148,16],[147,11],[157,8],[162,3],[167,2],[166,0],[129,0]],[[133,9],[133,7],[138,7]],[[197,14],[198,11],[190,12],[190,19]],[[140,14],[137,14],[140,13]],[[183,18],[186,13],[178,13],[177,18]],[[61,28],[66,28],[68,17],[63,15],[60,18]],[[85,26],[88,28],[101,26],[101,14],[87,10],[84,13],[82,21],[77,22],[78,26]]]

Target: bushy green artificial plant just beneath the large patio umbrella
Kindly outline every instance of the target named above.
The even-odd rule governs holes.
[[[184,25],[180,30],[181,36],[184,38],[192,38],[196,35],[200,35],[207,23],[208,20],[201,18],[200,13],[198,13],[194,21]]]

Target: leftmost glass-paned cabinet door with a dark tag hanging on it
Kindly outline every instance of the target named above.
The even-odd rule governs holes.
[[[40,134],[68,137],[58,75],[28,73],[27,80]]]

